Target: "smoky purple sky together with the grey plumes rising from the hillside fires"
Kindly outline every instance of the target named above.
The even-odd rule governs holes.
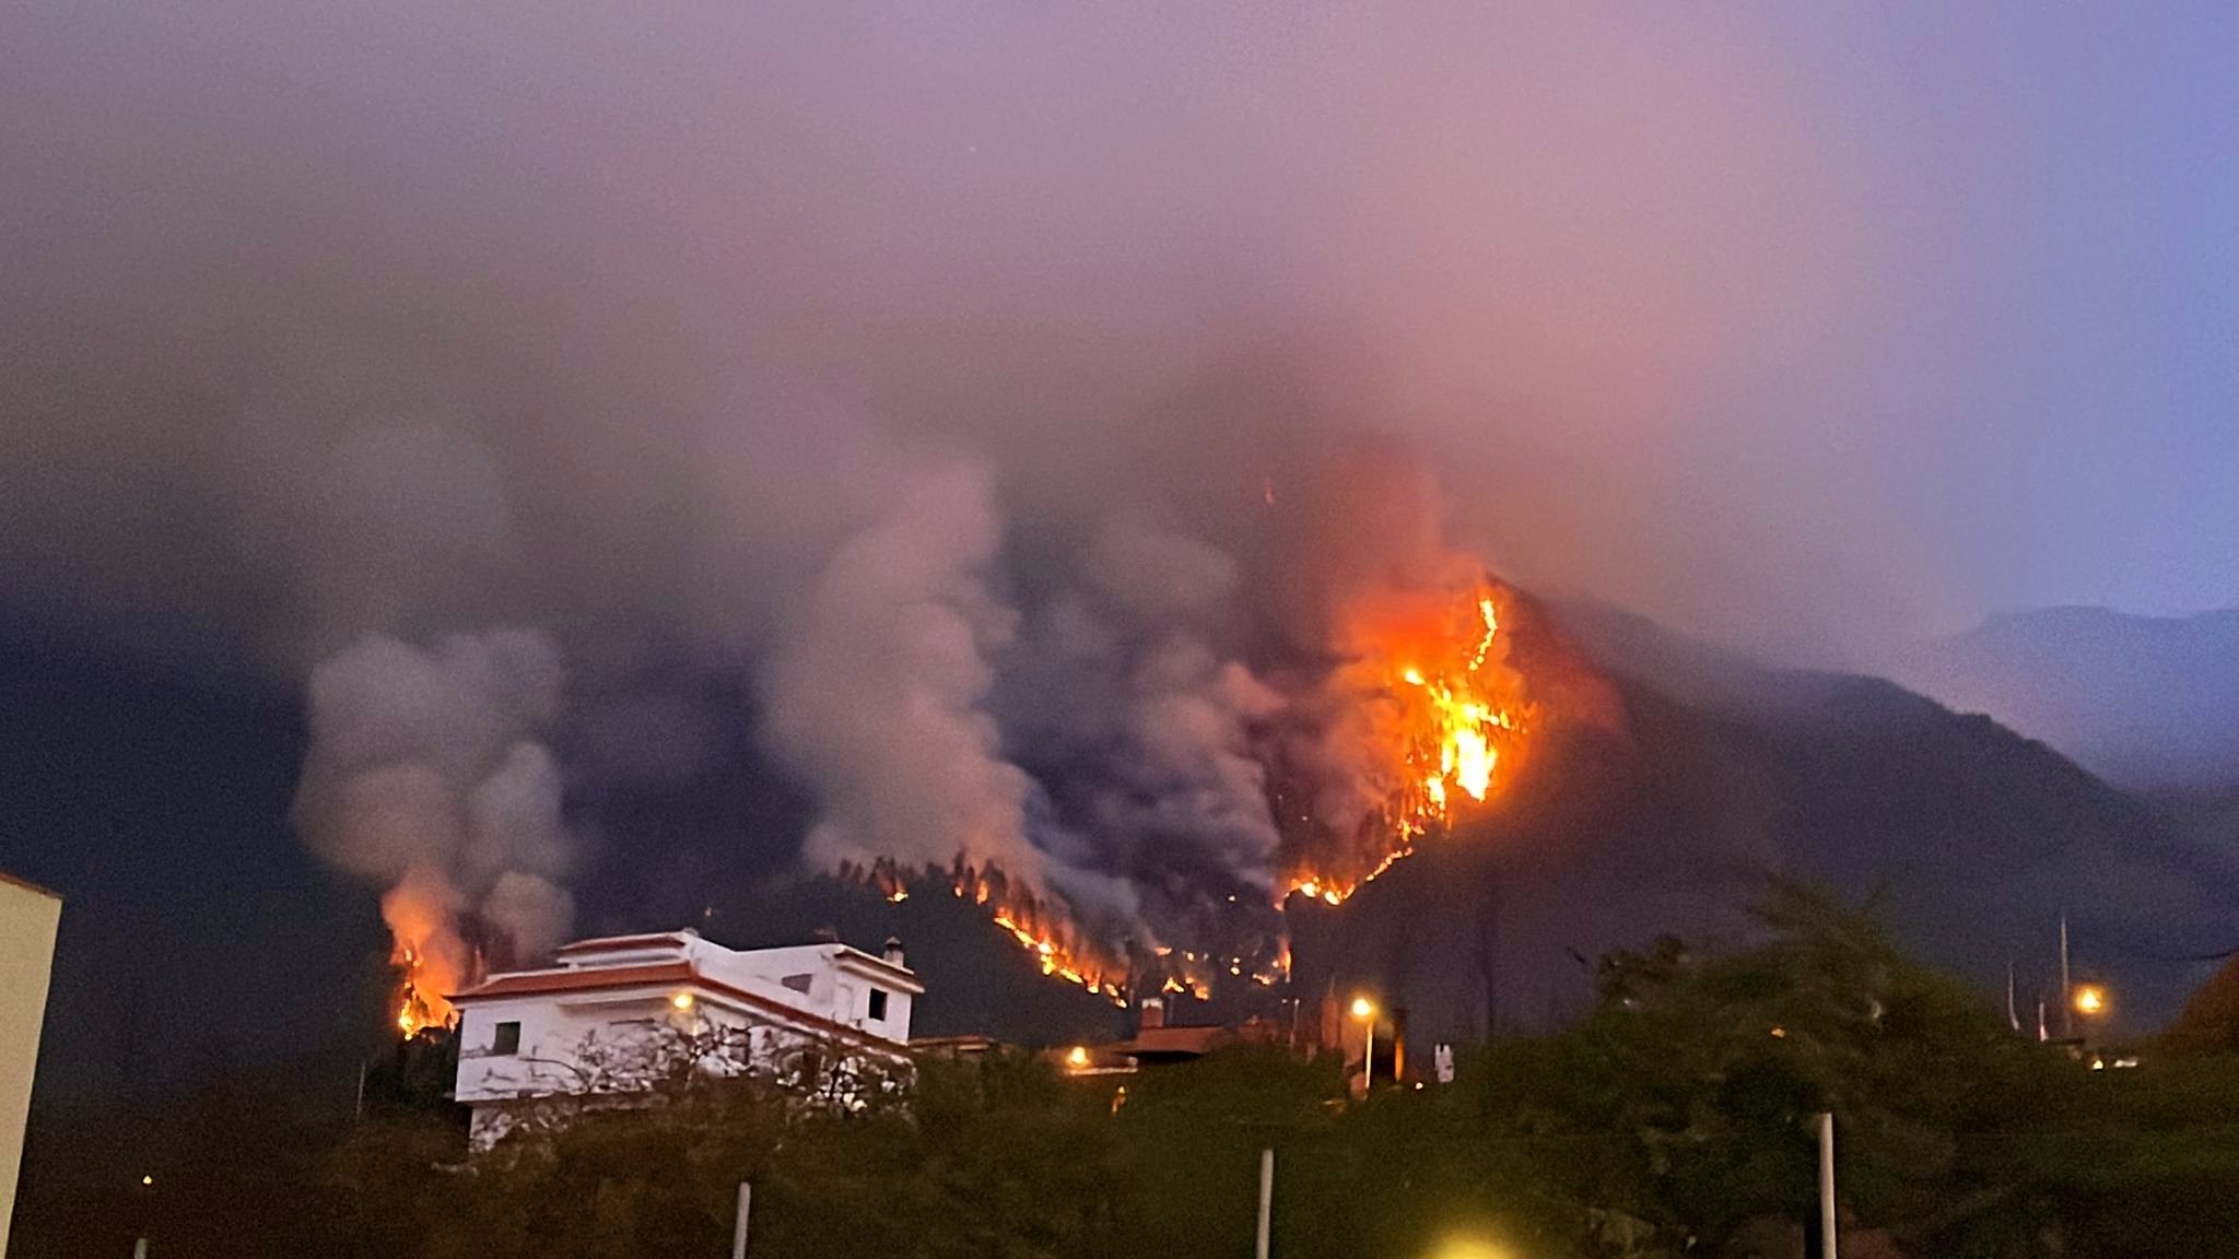
[[[562,784],[701,766],[708,670],[813,860],[1128,918],[1137,840],[1267,878],[1258,647],[1328,647],[1359,556],[1805,661],[2232,603],[2235,52],[2217,7],[18,4],[0,598],[309,686],[313,847],[531,936]]]

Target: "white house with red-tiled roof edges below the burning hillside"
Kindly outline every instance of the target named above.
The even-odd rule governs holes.
[[[553,968],[490,974],[450,999],[457,1098],[481,1149],[555,1100],[627,1102],[678,1055],[804,1087],[840,1066],[905,1071],[920,992],[898,941],[884,957],[842,943],[741,952],[692,927],[575,941]]]

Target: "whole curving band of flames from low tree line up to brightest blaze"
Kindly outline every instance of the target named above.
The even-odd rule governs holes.
[[[936,889],[983,905],[1043,974],[1115,1004],[1146,992],[1205,999],[1222,979],[1281,983],[1287,927],[1252,905],[1281,910],[1292,896],[1341,905],[1420,842],[1498,800],[1523,764],[1536,708],[1502,634],[1514,596],[1473,562],[1453,571],[1467,576],[1348,605],[1339,618],[1346,652],[1267,712],[1267,737],[1256,744],[1267,786],[1256,806],[1281,820],[1281,845],[1252,896],[1229,894],[1169,932],[1137,923],[1131,939],[1108,945],[1068,914],[1061,894],[1037,892],[996,862],[956,856],[949,867],[905,869],[878,858],[842,862],[840,876],[896,903]],[[1310,784],[1299,793],[1308,804],[1278,786],[1292,782]]]

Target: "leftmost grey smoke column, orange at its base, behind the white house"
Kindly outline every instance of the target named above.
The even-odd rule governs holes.
[[[367,634],[316,670],[296,824],[334,865],[390,887],[399,943],[466,972],[472,912],[522,957],[562,941],[573,838],[542,744],[560,652],[533,630],[416,647]]]

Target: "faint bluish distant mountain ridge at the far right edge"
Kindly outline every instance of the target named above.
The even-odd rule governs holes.
[[[1901,650],[1890,677],[2145,791],[2239,786],[2239,609],[2046,607]]]

